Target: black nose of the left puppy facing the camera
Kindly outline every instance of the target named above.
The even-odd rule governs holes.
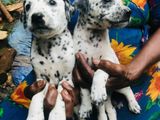
[[[44,20],[43,20],[44,15],[42,13],[34,13],[32,15],[32,24],[34,25],[44,25]]]

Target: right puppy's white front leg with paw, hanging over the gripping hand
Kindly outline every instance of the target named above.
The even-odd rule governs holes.
[[[97,106],[107,100],[106,82],[108,74],[100,69],[94,73],[93,83],[91,86],[91,99]]]

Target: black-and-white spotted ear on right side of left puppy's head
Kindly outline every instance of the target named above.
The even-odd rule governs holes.
[[[70,21],[71,16],[74,13],[74,7],[72,6],[69,0],[63,0],[63,1],[65,3],[65,12],[67,20]]]

